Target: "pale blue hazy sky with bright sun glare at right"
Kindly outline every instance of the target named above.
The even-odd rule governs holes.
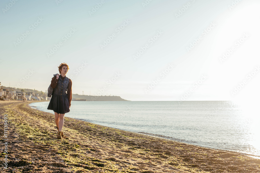
[[[2,0],[0,82],[132,101],[259,98],[258,0]]]

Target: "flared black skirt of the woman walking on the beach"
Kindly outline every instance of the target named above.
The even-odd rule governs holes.
[[[53,92],[47,109],[61,114],[69,112],[69,100],[67,93],[58,95]]]

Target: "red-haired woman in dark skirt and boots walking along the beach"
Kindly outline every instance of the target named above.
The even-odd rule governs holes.
[[[57,139],[62,139],[64,136],[62,132],[64,115],[69,112],[72,99],[72,81],[66,77],[66,73],[69,69],[69,66],[66,63],[61,63],[58,68],[61,75],[57,74],[51,80],[53,93],[47,109],[54,111],[56,127],[58,130]]]

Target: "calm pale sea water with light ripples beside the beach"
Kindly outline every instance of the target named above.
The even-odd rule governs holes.
[[[30,106],[54,114],[47,110],[48,104],[38,102]],[[231,101],[73,101],[71,105],[65,117],[260,156],[258,116],[248,115]]]

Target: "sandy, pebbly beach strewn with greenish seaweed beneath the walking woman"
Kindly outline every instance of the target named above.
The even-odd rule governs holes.
[[[0,172],[260,172],[260,160],[65,117],[57,139],[54,114],[36,101],[0,101]],[[8,115],[8,136],[4,134]],[[66,116],[66,114],[65,114]],[[8,166],[4,169],[4,140]]]

